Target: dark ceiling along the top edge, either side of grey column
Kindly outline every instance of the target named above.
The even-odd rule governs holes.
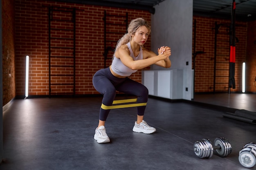
[[[146,10],[155,13],[154,6],[164,0],[54,0],[80,4],[101,5]],[[167,1],[167,0],[166,0]],[[233,0],[193,0],[193,15],[213,18],[231,18]],[[256,0],[236,0],[236,20],[256,20]]]

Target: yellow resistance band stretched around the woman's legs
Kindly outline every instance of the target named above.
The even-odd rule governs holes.
[[[137,102],[137,99],[114,100],[113,104],[130,103],[130,102]],[[130,107],[138,107],[138,106],[146,106],[146,105],[147,103],[122,104],[122,105],[115,105],[115,106],[106,106],[104,104],[101,104],[101,108],[104,110],[108,110],[108,109],[115,109],[115,108],[130,108]]]

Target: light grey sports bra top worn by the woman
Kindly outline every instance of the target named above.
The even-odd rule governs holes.
[[[130,45],[130,42],[126,44],[128,46],[128,49],[130,50],[130,56],[133,58],[133,60],[142,60],[143,59],[143,51],[142,48],[140,47],[139,49],[139,55],[137,57],[134,56],[132,52],[132,48]],[[125,66],[121,60],[117,57],[113,57],[112,65],[111,65],[112,70],[114,73],[121,75],[121,76],[130,76],[132,73],[135,73],[137,70],[132,70]]]

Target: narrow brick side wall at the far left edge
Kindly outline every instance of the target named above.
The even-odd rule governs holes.
[[[2,0],[3,106],[15,97],[14,0]]]

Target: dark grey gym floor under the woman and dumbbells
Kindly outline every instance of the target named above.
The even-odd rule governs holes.
[[[195,95],[193,101],[177,102],[150,97],[144,119],[157,131],[149,135],[132,132],[136,108],[113,109],[106,121],[106,144],[93,138],[101,99],[13,100],[3,115],[0,170],[248,169],[238,155],[245,144],[256,142],[256,126],[222,114],[236,109],[256,112],[255,94]],[[229,140],[230,155],[195,155],[195,141],[213,142],[216,137]]]

